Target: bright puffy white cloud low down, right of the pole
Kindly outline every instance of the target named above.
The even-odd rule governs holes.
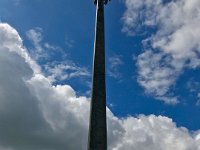
[[[117,150],[199,150],[199,141],[194,141],[187,129],[177,128],[167,117],[130,117],[123,121],[123,127],[126,132]]]

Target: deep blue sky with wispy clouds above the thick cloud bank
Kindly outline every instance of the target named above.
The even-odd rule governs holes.
[[[198,0],[105,6],[107,106],[114,116],[161,115],[188,131],[200,129],[197,6]],[[92,0],[0,0],[0,20],[18,31],[52,86],[69,85],[77,97],[90,97]]]

